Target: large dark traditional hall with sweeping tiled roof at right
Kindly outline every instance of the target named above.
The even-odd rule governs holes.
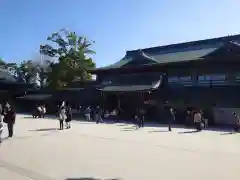
[[[234,35],[127,51],[120,61],[90,72],[105,108],[121,108],[129,118],[144,104],[148,119],[162,121],[168,101],[179,122],[195,107],[210,124],[233,124],[232,111],[240,113],[239,61],[240,35]]]

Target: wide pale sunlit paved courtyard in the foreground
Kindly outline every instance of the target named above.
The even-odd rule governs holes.
[[[240,134],[87,122],[57,127],[54,119],[18,115],[15,136],[0,145],[0,179],[240,179]]]

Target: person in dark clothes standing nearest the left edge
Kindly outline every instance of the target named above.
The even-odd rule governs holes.
[[[4,116],[4,122],[7,123],[7,126],[8,126],[8,137],[13,136],[13,126],[15,124],[15,119],[16,119],[16,113],[12,109],[12,107],[9,106]]]

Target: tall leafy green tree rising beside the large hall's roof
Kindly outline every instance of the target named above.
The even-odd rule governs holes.
[[[58,59],[50,65],[51,72],[47,78],[50,87],[60,88],[76,79],[91,79],[88,70],[94,68],[95,63],[88,55],[95,53],[91,49],[94,42],[65,29],[53,33],[47,40],[54,42],[56,48],[41,45],[40,53]]]

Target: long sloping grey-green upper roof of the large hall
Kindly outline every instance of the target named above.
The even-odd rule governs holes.
[[[98,69],[107,70],[123,67],[130,62],[137,61],[139,59],[139,52],[141,53],[141,57],[151,60],[152,64],[200,60],[223,47],[226,43],[232,43],[240,47],[240,35],[127,51],[125,57],[120,61]]]

